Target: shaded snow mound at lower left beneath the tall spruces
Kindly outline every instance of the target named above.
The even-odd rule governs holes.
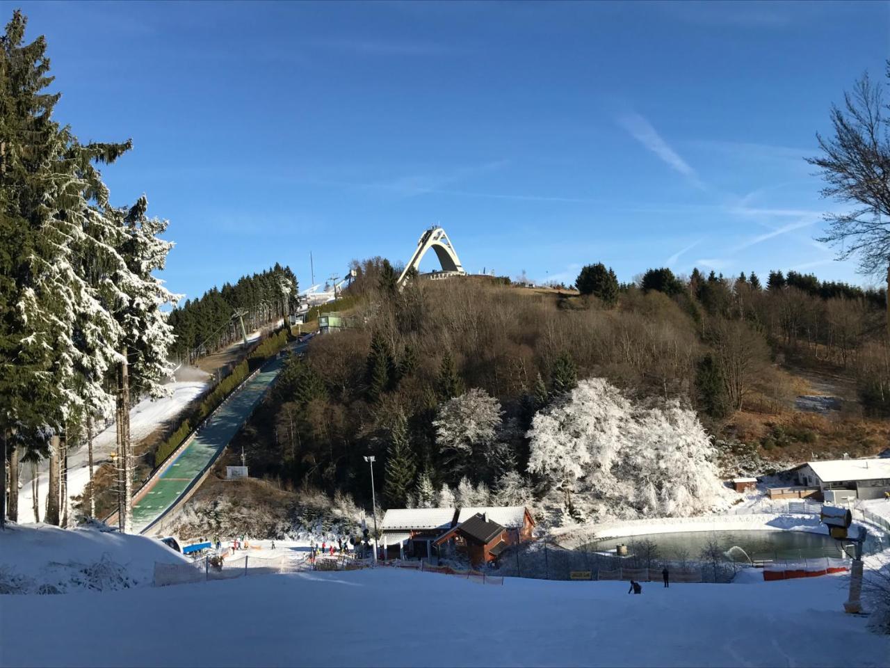
[[[151,583],[155,562],[190,563],[164,543],[99,529],[7,525],[0,593],[111,591]]]

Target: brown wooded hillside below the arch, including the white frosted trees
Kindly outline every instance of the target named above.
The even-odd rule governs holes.
[[[683,514],[720,502],[718,468],[886,443],[881,291],[667,269],[619,286],[596,265],[583,293],[481,277],[399,291],[385,261],[356,266],[352,328],[292,360],[243,436],[252,472],[283,485],[362,497],[374,453],[390,507],[457,495],[548,500],[574,517]],[[797,411],[797,370],[849,379],[859,400]],[[677,453],[696,463],[666,476],[659,460]]]

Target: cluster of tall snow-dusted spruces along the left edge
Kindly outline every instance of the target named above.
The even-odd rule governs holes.
[[[23,46],[24,29],[24,17],[15,12],[2,40],[4,75],[11,76],[0,77],[0,244],[15,255],[0,260],[8,262],[0,346],[12,360],[0,374],[9,379],[0,387],[0,420],[26,434],[61,434],[86,411],[111,411],[108,378],[125,361],[127,328],[144,337],[159,315],[150,313],[148,301],[134,300],[145,299],[145,284],[155,281],[150,271],[163,263],[127,249],[128,230],[109,207],[96,168],[131,143],[81,144],[53,121],[59,95],[43,93],[53,80],[45,43],[38,38]],[[131,309],[129,324],[117,317],[122,305]],[[142,371],[151,378],[148,368]],[[52,473],[58,470],[56,448],[50,457]],[[53,480],[51,487],[57,486]],[[59,502],[50,495],[47,521],[58,523]]]

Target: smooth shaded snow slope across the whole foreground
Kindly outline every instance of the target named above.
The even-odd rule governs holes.
[[[28,595],[4,600],[0,664],[886,665],[890,638],[842,612],[846,582],[644,583],[628,596],[626,582],[488,586],[378,568]]]

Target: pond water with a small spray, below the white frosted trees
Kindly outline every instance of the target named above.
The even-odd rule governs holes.
[[[841,557],[840,547],[833,538],[824,534],[805,531],[684,531],[676,534],[645,534],[607,538],[590,543],[581,550],[615,553],[615,546],[627,545],[628,555],[634,553],[634,543],[650,540],[658,546],[659,558],[696,559],[709,542],[716,542],[726,552],[726,557],[747,562],[748,557],[758,561],[765,559],[797,559],[815,557]],[[732,547],[744,550],[731,550]]]

